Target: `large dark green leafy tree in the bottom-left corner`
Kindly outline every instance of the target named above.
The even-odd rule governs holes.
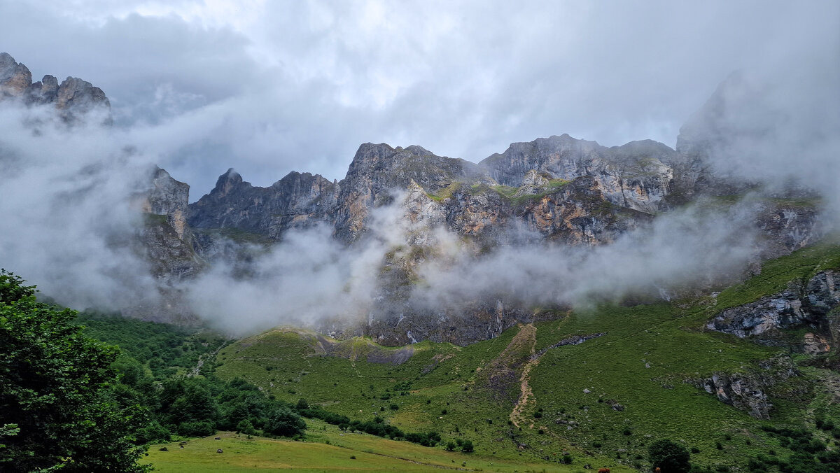
[[[37,302],[0,270],[0,470],[147,471],[131,432],[144,409],[108,395],[118,349],[71,324],[76,312]]]

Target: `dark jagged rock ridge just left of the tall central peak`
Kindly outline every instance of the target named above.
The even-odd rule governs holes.
[[[290,172],[270,187],[254,187],[233,169],[190,205],[195,229],[235,228],[279,240],[287,229],[332,224],[339,185],[318,174]]]

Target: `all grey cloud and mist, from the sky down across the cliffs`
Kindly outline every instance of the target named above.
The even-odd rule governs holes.
[[[165,290],[207,323],[248,334],[364,322],[384,297],[386,254],[407,258],[417,245],[435,256],[412,262],[413,307],[458,313],[496,298],[585,307],[679,297],[756,270],[764,197],[819,196],[821,231],[840,225],[837,3],[423,5],[311,3],[295,10],[306,22],[282,15],[285,28],[267,28],[260,14],[144,4],[140,13],[97,5],[74,16],[4,3],[0,13],[20,21],[0,39],[19,41],[31,25],[39,32],[24,52],[8,52],[36,77],[56,64],[101,80],[115,126],[92,118],[68,127],[51,108],[0,101],[0,266],[69,307],[138,313],[164,303]],[[511,29],[500,28],[507,17]],[[405,33],[415,25],[428,45]],[[46,29],[66,41],[45,44]],[[507,241],[517,244],[480,254],[441,222],[412,223],[396,189],[394,203],[371,210],[359,242],[341,244],[329,228],[290,230],[279,244],[251,248],[259,257],[244,275],[211,261],[181,281],[151,276],[137,245],[136,200],[155,164],[191,184],[195,200],[231,166],[257,185],[291,170],[340,178],[364,141],[480,160],[514,140],[563,133],[679,145],[680,125],[683,139],[705,137],[702,166],[748,182],[753,194],[733,206],[673,209],[612,244],[569,247],[512,229]]]

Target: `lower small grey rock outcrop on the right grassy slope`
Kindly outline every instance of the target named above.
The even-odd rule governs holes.
[[[787,392],[774,392],[774,386],[799,376],[790,357],[778,355],[759,364],[759,371],[731,372],[715,371],[711,377],[690,379],[685,382],[714,394],[718,400],[736,409],[746,411],[753,418],[769,419],[773,403],[768,394],[784,397],[795,396],[804,387],[787,386]]]

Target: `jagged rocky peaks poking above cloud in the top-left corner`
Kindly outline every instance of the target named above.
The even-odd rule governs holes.
[[[103,124],[111,124],[111,102],[99,87],[77,77],[60,84],[54,76],[32,83],[32,73],[11,55],[0,53],[0,100],[14,98],[27,105],[52,104],[66,123],[72,124],[96,113]]]

